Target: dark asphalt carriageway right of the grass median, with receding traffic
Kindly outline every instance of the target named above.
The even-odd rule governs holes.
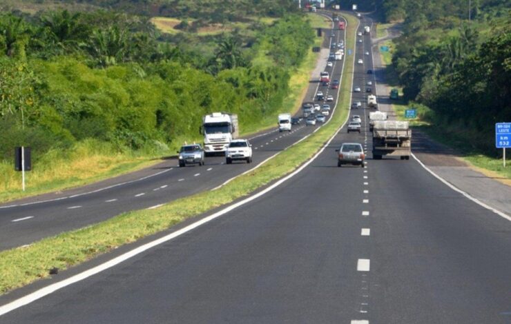
[[[357,39],[354,85],[372,68]],[[347,141],[367,146],[365,168],[337,168]],[[510,221],[414,159],[372,160],[371,141],[363,118],[268,194],[0,322],[510,323]]]

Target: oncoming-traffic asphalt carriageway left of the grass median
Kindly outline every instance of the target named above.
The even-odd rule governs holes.
[[[330,34],[330,30],[325,30],[323,48],[327,49],[332,41],[338,42],[345,37],[344,31],[336,30],[334,37],[330,37]],[[340,79],[343,62],[344,60],[334,61],[334,66],[327,68],[326,61],[321,61],[321,70],[329,71],[331,79]],[[316,80],[319,80],[319,72]],[[316,81],[310,83],[305,101],[315,100],[318,89],[325,94],[325,98],[328,94],[334,96],[334,101],[330,103],[333,107],[337,101],[338,90],[321,86]],[[297,115],[301,116],[301,111]],[[306,127],[305,121],[302,121],[301,125],[293,126],[291,132],[280,133],[274,128],[253,136],[251,164],[241,162],[225,165],[223,156],[213,156],[206,158],[206,165],[203,167],[179,168],[176,160],[169,160],[164,165],[160,164],[149,176],[127,181],[128,183],[119,180],[120,184],[108,183],[103,188],[94,190],[83,188],[70,194],[64,192],[59,196],[64,199],[50,199],[46,202],[28,199],[28,202],[14,201],[2,204],[0,250],[27,245],[60,232],[98,223],[122,212],[155,207],[183,196],[213,190],[234,176],[285,150],[318,128],[320,124]]]

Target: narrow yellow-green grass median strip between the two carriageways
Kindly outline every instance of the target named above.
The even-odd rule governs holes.
[[[347,16],[347,19],[347,46],[354,48],[356,19],[352,16]],[[318,152],[347,118],[354,55],[347,58],[338,108],[331,121],[308,139],[280,152],[260,168],[239,176],[214,192],[177,199],[153,210],[127,212],[102,223],[37,241],[27,247],[0,252],[0,293],[5,294],[33,281],[48,278],[52,267],[64,270],[114,250],[119,245],[132,243],[166,230],[184,219],[231,203],[295,170]]]

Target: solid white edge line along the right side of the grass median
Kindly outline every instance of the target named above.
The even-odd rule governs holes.
[[[346,21],[347,26],[347,21]],[[341,72],[342,75],[342,72]],[[353,77],[351,77],[353,80]],[[353,82],[353,81],[352,81]],[[337,104],[336,104],[337,106]],[[336,108],[334,108],[335,111]],[[7,303],[6,305],[0,306],[0,316],[3,314],[6,314],[8,312],[11,312],[12,310],[16,310],[19,307],[22,307],[23,305],[27,305],[29,303],[32,303],[33,301],[37,301],[39,298],[43,298],[44,296],[47,296],[49,294],[52,294],[52,292],[56,292],[57,290],[66,287],[68,285],[71,285],[73,283],[77,283],[78,281],[84,280],[88,278],[89,276],[93,276],[94,274],[98,274],[99,272],[102,272],[110,267],[113,267],[119,263],[122,263],[133,256],[136,256],[137,254],[140,254],[142,252],[145,252],[146,250],[151,249],[152,247],[155,247],[157,245],[160,245],[162,243],[165,243],[167,241],[171,241],[172,239],[175,239],[177,236],[180,236],[186,232],[190,232],[191,230],[194,230],[195,228],[199,227],[200,225],[203,225],[205,223],[209,223],[210,221],[213,221],[213,219],[217,219],[218,217],[231,212],[231,210],[235,210],[236,208],[245,205],[255,199],[258,199],[260,196],[263,196],[264,194],[267,194],[267,192],[270,192],[271,190],[277,188],[279,185],[284,183],[285,181],[291,179],[293,176],[296,176],[296,174],[302,172],[309,164],[311,164],[314,160],[320,156],[320,154],[325,150],[325,148],[328,147],[328,145],[331,143],[331,141],[334,140],[334,138],[337,136],[337,134],[340,132],[340,130],[346,125],[346,122],[349,120],[349,114],[347,114],[347,118],[344,121],[343,125],[340,125],[338,130],[330,137],[330,139],[322,145],[322,148],[314,154],[314,156],[309,159],[309,161],[306,161],[303,163],[298,169],[294,170],[287,176],[283,177],[282,179],[279,179],[276,181],[276,183],[273,183],[273,185],[270,185],[268,188],[254,194],[253,196],[249,196],[246,199],[243,199],[242,201],[239,201],[238,203],[234,203],[233,205],[230,205],[228,207],[225,207],[224,209],[220,210],[219,212],[215,212],[214,214],[211,214],[210,216],[204,217],[204,219],[201,219],[200,221],[196,221],[195,223],[192,223],[186,227],[183,227],[181,230],[177,230],[171,234],[168,234],[166,236],[161,237],[160,239],[156,239],[154,241],[151,241],[149,243],[146,243],[144,245],[141,245],[139,247],[136,247],[135,249],[126,252],[120,256],[115,257],[114,259],[111,259],[110,261],[106,261],[105,263],[102,263],[101,265],[97,265],[89,270],[86,270],[84,272],[81,272],[79,274],[75,274],[75,276],[71,276],[68,279],[64,279],[63,281],[59,281],[58,283],[52,283],[51,285],[48,285],[44,288],[41,288],[35,292],[32,292],[26,296],[23,296],[21,298],[16,299],[15,301],[12,301],[10,303]],[[330,119],[328,120],[330,121]],[[327,122],[328,122],[327,121]],[[326,123],[325,123],[326,125]],[[304,138],[300,139],[300,141],[304,140],[311,134],[305,136]],[[298,142],[296,142],[298,143]],[[293,144],[294,145],[294,144]]]

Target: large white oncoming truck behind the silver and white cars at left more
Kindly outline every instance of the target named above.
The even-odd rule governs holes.
[[[202,117],[201,134],[204,134],[204,153],[224,153],[233,139],[237,139],[238,115],[213,112]]]

